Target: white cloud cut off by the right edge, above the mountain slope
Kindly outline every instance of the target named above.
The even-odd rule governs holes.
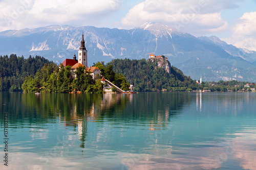
[[[232,27],[232,35],[222,40],[237,47],[256,51],[256,12],[244,13]]]

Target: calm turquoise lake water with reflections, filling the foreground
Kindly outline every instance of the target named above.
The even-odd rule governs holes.
[[[256,169],[256,93],[0,93],[0,104],[0,169]]]

